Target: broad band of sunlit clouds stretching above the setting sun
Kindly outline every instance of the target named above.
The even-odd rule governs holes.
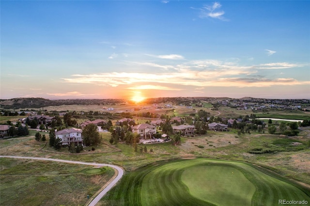
[[[129,62],[127,62],[129,63]],[[177,65],[161,65],[152,62],[130,62],[147,67],[158,67],[163,72],[112,72],[100,74],[74,74],[62,78],[67,83],[94,84],[98,86],[129,89],[176,90],[193,87],[201,91],[207,87],[270,87],[273,85],[310,85],[310,81],[294,78],[274,78],[259,75],[264,69],[288,69],[305,66],[303,64],[276,62],[259,65],[239,65],[238,60],[220,61],[216,59],[192,60]]]

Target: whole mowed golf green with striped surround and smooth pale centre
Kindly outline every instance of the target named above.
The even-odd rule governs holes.
[[[109,205],[278,205],[310,190],[249,163],[197,158],[156,162],[127,173],[104,198]]]

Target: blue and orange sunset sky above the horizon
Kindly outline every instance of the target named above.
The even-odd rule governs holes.
[[[0,99],[310,99],[310,1],[0,1]]]

